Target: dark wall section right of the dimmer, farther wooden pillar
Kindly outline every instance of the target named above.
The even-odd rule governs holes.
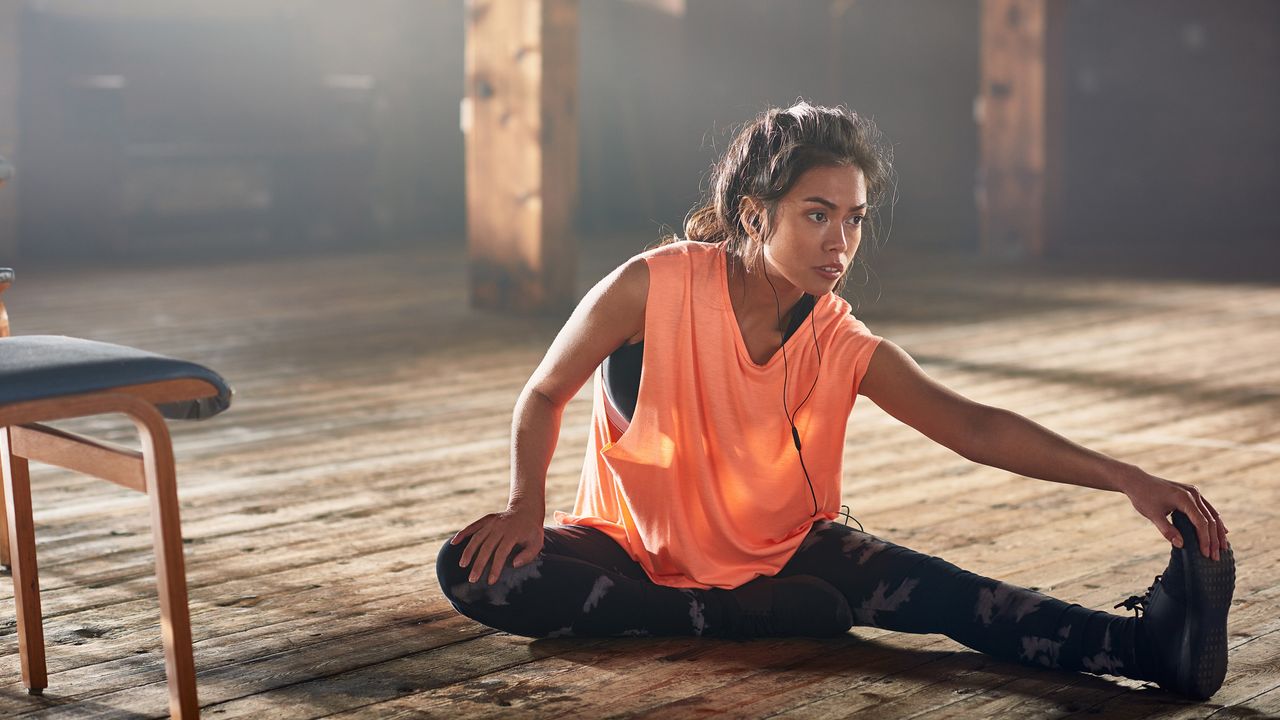
[[[1080,0],[1066,46],[1055,254],[1280,265],[1280,3]]]

